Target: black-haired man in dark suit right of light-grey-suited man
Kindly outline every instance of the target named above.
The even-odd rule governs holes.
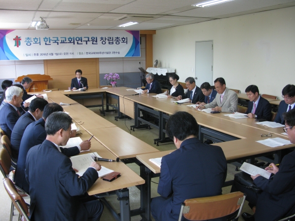
[[[271,106],[269,102],[259,95],[259,89],[256,85],[249,85],[245,90],[249,103],[248,110],[245,112],[250,118],[271,119]]]

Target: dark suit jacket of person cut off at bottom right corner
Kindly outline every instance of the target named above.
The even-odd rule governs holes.
[[[253,182],[263,190],[258,195],[255,220],[273,221],[287,215],[295,205],[295,151],[283,158],[272,178],[259,176]]]

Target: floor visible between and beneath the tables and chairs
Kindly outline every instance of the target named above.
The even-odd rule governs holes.
[[[97,114],[99,113],[99,108],[90,108],[90,110],[94,111]],[[115,121],[114,117],[117,115],[115,112],[108,112],[106,113],[106,116],[103,116],[105,119],[111,121],[112,123],[116,124],[118,127],[121,129],[129,132],[130,126],[134,124],[134,120],[118,120]],[[151,130],[146,130],[146,129],[141,129],[141,130],[135,130],[134,132],[131,131],[131,134],[149,145],[159,149],[160,151],[165,151],[165,150],[172,150],[175,149],[174,143],[163,143],[159,144],[159,146],[156,146],[153,144],[153,139],[158,137],[158,131],[156,129],[151,129]],[[136,164],[128,164],[133,171],[137,172],[139,174],[139,166]],[[228,175],[227,175],[227,180],[232,180],[234,178],[234,174],[236,173],[235,171],[236,166],[233,166],[231,164],[228,164]],[[0,175],[2,176],[2,175]],[[159,178],[152,178],[152,181],[155,183],[158,183]],[[158,196],[157,193],[157,187],[158,185],[155,183],[151,183],[151,197]],[[231,190],[231,187],[225,187],[222,189],[223,193],[229,193]],[[137,209],[140,207],[140,192],[136,187],[131,187],[129,188],[129,194],[130,194],[130,208],[131,209]],[[116,212],[119,213],[119,202],[117,200],[117,196],[113,195],[110,197],[106,198],[108,202],[112,205],[112,207],[116,210]],[[10,206],[11,206],[11,201],[9,196],[4,190],[3,185],[0,185],[0,221],[9,221],[9,216],[10,216]],[[247,203],[245,203],[243,212],[248,212],[252,214],[252,210],[249,208]],[[18,212],[17,210],[14,210],[14,221],[17,221],[18,218]],[[140,221],[141,217],[140,216],[135,216],[131,218],[131,221]],[[153,220],[153,219],[152,219]],[[101,217],[101,221],[115,221],[113,216],[110,214],[107,208],[104,209],[104,212]],[[240,217],[239,221],[243,221],[243,219]]]

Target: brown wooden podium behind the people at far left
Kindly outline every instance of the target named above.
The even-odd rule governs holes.
[[[29,77],[31,80],[33,80],[33,83],[30,85],[29,89],[27,89],[27,92],[37,92],[46,90],[48,89],[48,81],[53,80],[49,75],[34,74],[20,76],[15,80],[15,82],[21,83],[23,78],[25,77]]]

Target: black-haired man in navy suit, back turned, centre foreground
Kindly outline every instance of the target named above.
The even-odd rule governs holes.
[[[184,111],[173,114],[167,122],[166,133],[177,150],[162,158],[161,196],[153,198],[150,205],[155,221],[177,221],[185,199],[222,194],[227,174],[224,153],[219,146],[202,143],[198,129],[196,119]]]

